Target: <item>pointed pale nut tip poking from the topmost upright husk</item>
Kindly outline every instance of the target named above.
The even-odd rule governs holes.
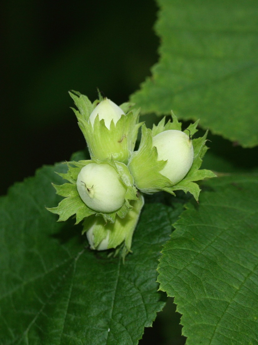
[[[106,127],[110,129],[111,120],[113,120],[114,124],[116,124],[120,117],[125,115],[125,113],[120,107],[118,107],[118,105],[116,105],[116,103],[112,102],[108,98],[105,98],[90,114],[89,121],[92,124],[92,127],[97,115],[99,116],[99,120],[104,119]]]

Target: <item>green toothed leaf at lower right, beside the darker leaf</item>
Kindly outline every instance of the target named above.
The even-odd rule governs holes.
[[[187,344],[258,344],[258,174],[205,185],[162,250],[160,289],[175,296]]]

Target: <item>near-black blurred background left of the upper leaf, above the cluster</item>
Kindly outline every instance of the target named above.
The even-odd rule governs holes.
[[[1,184],[85,147],[68,90],[120,104],[157,61],[154,1],[4,1],[1,6]]]

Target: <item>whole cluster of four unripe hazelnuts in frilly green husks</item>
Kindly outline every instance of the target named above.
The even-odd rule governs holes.
[[[215,176],[199,169],[207,133],[191,139],[198,121],[182,131],[173,113],[172,122],[165,124],[163,118],[148,129],[139,122],[139,110],[129,103],[119,107],[108,98],[91,103],[79,92],[70,95],[91,159],[67,162],[67,173],[60,175],[68,183],[54,186],[65,198],[49,210],[59,220],[76,215],[76,223],[83,221],[90,248],[123,246],[125,257],[144,204],[143,193],[174,194],[182,189],[197,200],[200,188],[193,181]],[[134,151],[140,127],[141,141]]]

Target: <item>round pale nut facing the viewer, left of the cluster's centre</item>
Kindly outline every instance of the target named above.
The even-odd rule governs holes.
[[[89,163],[80,170],[77,190],[84,203],[97,212],[118,210],[125,202],[126,187],[107,163]]]

